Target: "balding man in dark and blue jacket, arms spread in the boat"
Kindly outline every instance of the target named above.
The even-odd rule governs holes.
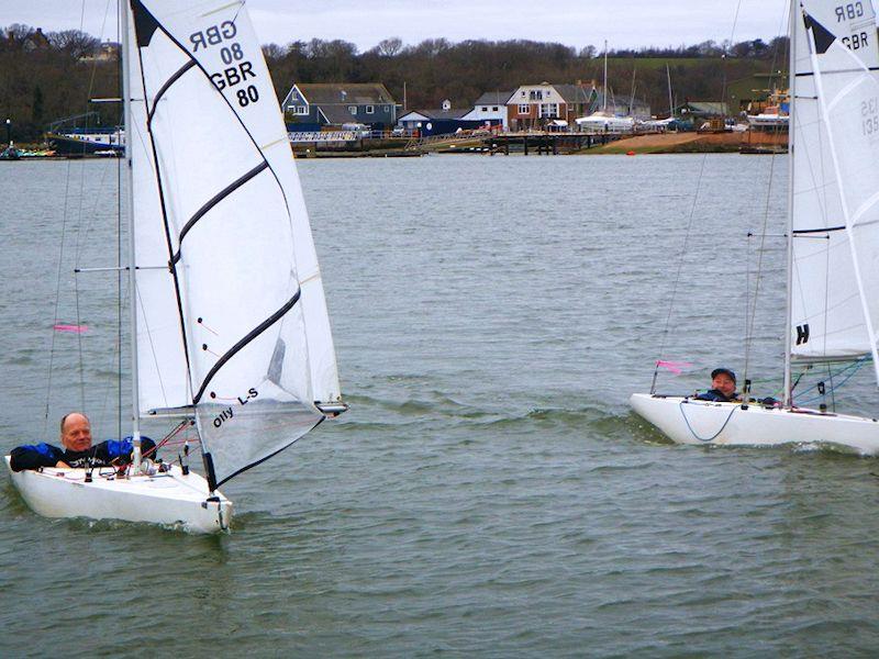
[[[60,443],[64,448],[51,444],[19,446],[10,454],[12,471],[57,467],[59,469],[109,467],[126,465],[131,461],[133,449],[131,437],[108,439],[91,445],[91,424],[80,412],[71,412],[62,417]],[[141,437],[141,450],[148,455],[156,444],[148,437]]]

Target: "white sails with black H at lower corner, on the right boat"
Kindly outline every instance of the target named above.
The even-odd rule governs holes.
[[[879,67],[869,1],[794,11],[791,354],[854,358],[879,321]]]

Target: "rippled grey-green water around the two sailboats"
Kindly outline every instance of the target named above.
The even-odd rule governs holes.
[[[118,431],[114,276],[80,275],[77,297],[69,275],[115,263],[115,167],[3,167],[5,449],[81,401],[99,437]],[[783,158],[308,160],[300,176],[352,411],[224,488],[231,535],[45,520],[4,480],[0,654],[879,647],[875,460],[674,446],[626,404],[660,351],[694,365],[664,390],[742,372],[746,234],[783,231]],[[763,254],[748,373],[772,393],[783,239]],[[55,317],[90,331],[53,335]],[[845,409],[869,413],[863,370]]]

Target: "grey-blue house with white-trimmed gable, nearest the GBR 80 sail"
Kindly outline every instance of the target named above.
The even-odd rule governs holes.
[[[397,123],[397,102],[380,82],[293,85],[281,103],[288,125],[298,131],[364,124],[388,131]]]

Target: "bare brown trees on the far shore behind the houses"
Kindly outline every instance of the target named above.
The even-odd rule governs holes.
[[[634,89],[654,112],[667,111],[668,66],[677,99],[721,100],[728,81],[786,67],[787,46],[787,37],[777,37],[617,48],[608,54],[609,87],[623,97]],[[78,30],[0,29],[0,121],[12,119],[15,139],[36,141],[51,122],[77,114],[93,113],[90,125],[120,122],[119,104],[89,102],[121,96],[118,63],[97,57],[101,47]],[[453,108],[469,108],[486,91],[542,81],[601,83],[603,75],[603,53],[594,46],[526,40],[431,38],[407,45],[391,37],[359,52],[351,42],[314,38],[268,44],[263,51],[279,100],[294,82],[383,82],[408,109],[438,108],[445,99]]]

